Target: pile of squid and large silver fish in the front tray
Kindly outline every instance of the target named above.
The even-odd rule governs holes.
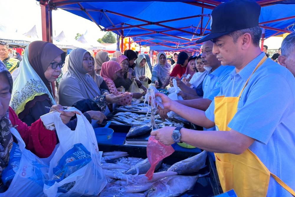
[[[110,156],[111,153],[106,154]],[[114,152],[114,156],[118,155],[118,157],[123,154],[126,152]],[[151,180],[145,176],[150,168],[148,159],[128,157],[109,160],[107,162],[113,163],[102,163],[109,183],[99,196],[179,196],[193,189],[198,178],[209,174],[186,176],[186,174],[195,173],[204,168],[206,157],[207,151],[203,151],[198,155],[174,163],[168,170],[154,173]],[[160,165],[158,164],[157,169]]]

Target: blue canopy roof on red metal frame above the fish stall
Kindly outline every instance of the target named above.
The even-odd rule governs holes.
[[[291,32],[288,26],[295,22],[295,5],[292,4],[294,1],[257,2],[262,6],[260,25],[266,29],[266,38],[273,34]],[[211,11],[220,3],[220,0],[52,0],[49,4],[52,9],[61,8],[94,21],[103,31],[113,31],[123,37],[135,37],[135,41],[145,36],[151,37],[149,39],[158,37],[158,40],[161,37],[161,41],[154,39],[149,42],[137,42],[138,44],[146,45],[153,42],[176,49],[180,44],[183,47],[195,47],[195,41],[209,33]]]

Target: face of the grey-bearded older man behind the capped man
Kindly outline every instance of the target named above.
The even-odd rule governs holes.
[[[217,60],[216,56],[212,53],[213,42],[206,41],[202,46],[202,62],[204,66],[210,66],[215,69],[220,66],[220,61]]]

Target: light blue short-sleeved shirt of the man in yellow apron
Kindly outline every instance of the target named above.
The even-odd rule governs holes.
[[[259,56],[239,73],[233,70],[218,96],[239,96],[245,82],[264,57]],[[273,174],[295,190],[295,79],[268,58],[251,76],[242,92],[237,113],[228,127],[255,139],[249,149]],[[205,115],[214,121],[214,101]],[[271,176],[267,196],[292,196]]]

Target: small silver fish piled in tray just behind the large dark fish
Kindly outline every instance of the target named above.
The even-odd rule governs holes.
[[[139,114],[131,113],[131,112],[118,112],[109,120],[112,121],[112,123],[118,124],[118,125],[125,125],[125,124],[145,125],[145,124],[151,123],[150,114],[146,116],[144,114],[139,115]],[[163,121],[159,114],[154,116],[154,121],[156,124],[158,124],[159,127],[164,127],[164,126],[183,127],[184,126],[184,124],[181,121],[176,122],[176,121],[171,121],[167,119]]]

